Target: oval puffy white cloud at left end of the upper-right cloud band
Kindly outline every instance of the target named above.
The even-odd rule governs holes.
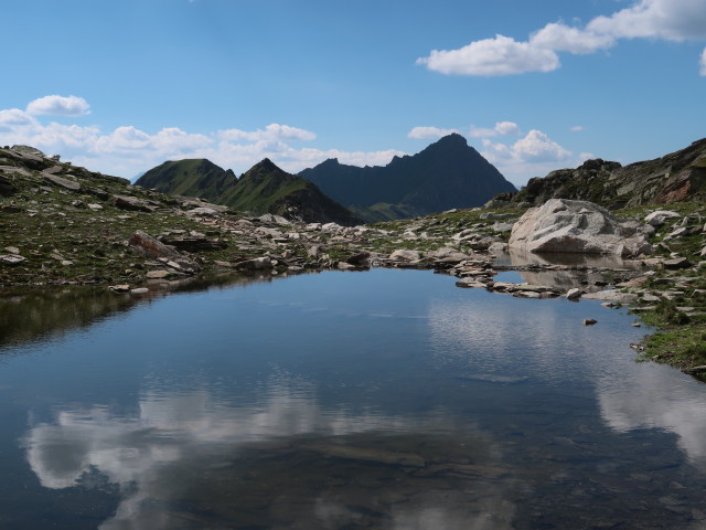
[[[552,72],[560,66],[552,50],[503,35],[471,42],[459,50],[432,50],[417,64],[442,74],[482,76]]]

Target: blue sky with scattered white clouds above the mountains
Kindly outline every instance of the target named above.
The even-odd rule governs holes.
[[[132,178],[384,165],[450,131],[517,186],[706,136],[706,0],[22,0],[0,145]]]

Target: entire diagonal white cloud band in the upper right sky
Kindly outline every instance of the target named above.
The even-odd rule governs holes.
[[[619,39],[637,38],[706,40],[704,0],[639,0],[611,15],[592,19],[585,28],[553,22],[531,34],[526,42],[495,35],[458,50],[434,50],[417,63],[435,72],[459,75],[552,72],[560,66],[557,52],[589,54],[614,46]],[[702,57],[702,66],[703,61]]]

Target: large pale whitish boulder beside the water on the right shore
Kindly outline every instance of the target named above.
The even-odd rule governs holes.
[[[635,256],[651,254],[648,237],[654,227],[620,220],[588,201],[550,199],[532,208],[515,223],[510,248],[532,253],[581,253]]]

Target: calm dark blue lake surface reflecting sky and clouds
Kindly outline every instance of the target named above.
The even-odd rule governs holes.
[[[388,269],[114,310],[4,333],[0,528],[706,528],[705,386],[625,311]]]

